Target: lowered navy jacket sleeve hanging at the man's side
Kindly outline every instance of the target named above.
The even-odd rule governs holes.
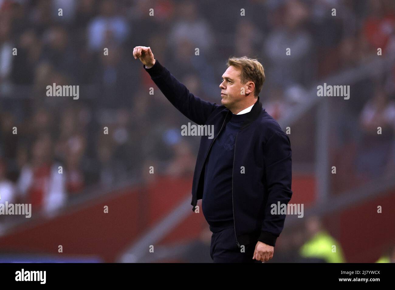
[[[284,228],[286,215],[272,214],[272,204],[288,204],[291,199],[292,151],[291,142],[284,132],[274,133],[264,145],[265,186],[267,202],[258,241],[275,246]]]

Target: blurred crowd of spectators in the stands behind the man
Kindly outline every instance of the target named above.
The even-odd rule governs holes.
[[[383,55],[395,53],[395,2],[0,0],[2,201],[51,211],[90,185],[149,180],[150,166],[172,176],[192,174],[199,138],[181,137],[190,120],[134,60],[137,45],[150,46],[190,92],[215,103],[228,57],[258,58],[267,75],[263,107],[279,119],[324,77],[363,64],[378,47]],[[394,131],[394,71],[382,77],[355,85],[344,101],[344,112],[367,133],[361,138],[377,124]],[[79,99],[47,97],[53,83],[79,85]],[[343,144],[352,128],[339,128]],[[388,161],[384,152],[395,146],[386,138],[363,156],[381,152],[375,162]]]

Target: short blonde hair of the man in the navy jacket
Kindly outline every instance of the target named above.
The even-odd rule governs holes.
[[[247,56],[230,57],[226,65],[228,67],[233,65],[234,67],[241,69],[241,84],[245,84],[248,80],[254,82],[254,95],[255,97],[258,97],[262,90],[263,82],[265,82],[265,70],[263,69],[263,65],[258,60]]]

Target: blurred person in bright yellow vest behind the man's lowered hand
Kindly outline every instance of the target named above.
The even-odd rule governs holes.
[[[339,242],[323,228],[319,217],[308,218],[306,230],[308,240],[299,249],[302,257],[320,258],[327,263],[345,262]]]

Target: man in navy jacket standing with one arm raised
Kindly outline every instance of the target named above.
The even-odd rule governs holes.
[[[135,59],[165,97],[198,125],[213,125],[214,138],[202,136],[192,183],[192,210],[202,199],[213,232],[214,262],[264,262],[273,257],[285,215],[272,206],[292,196],[291,144],[259,100],[265,74],[257,60],[230,58],[222,75],[221,103],[192,93],[154,58],[136,46]]]

